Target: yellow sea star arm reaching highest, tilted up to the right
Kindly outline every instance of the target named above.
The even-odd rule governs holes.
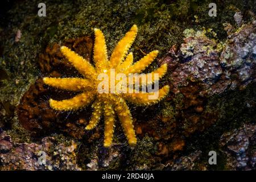
[[[137,35],[138,28],[134,24],[133,27],[125,34],[125,36],[120,40],[115,46],[114,51],[110,57],[110,68],[117,67],[123,61],[123,57],[127,54],[127,51],[133,44],[135,36]]]

